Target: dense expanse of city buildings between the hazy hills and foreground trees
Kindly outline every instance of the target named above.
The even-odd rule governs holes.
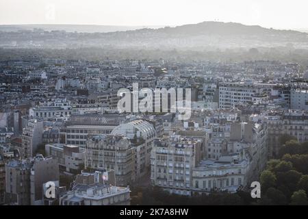
[[[185,196],[246,190],[282,136],[308,141],[300,69],[262,60],[0,61],[0,203],[127,205],[128,185]],[[117,92],[133,83],[191,88],[190,118],[179,120],[170,103],[168,112],[119,112]],[[152,107],[163,99],[171,95]],[[44,196],[50,182],[55,199]]]

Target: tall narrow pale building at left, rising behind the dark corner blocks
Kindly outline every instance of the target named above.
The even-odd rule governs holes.
[[[31,119],[23,129],[21,155],[24,158],[33,157],[42,143],[43,122]]]

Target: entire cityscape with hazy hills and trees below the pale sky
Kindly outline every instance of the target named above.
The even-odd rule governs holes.
[[[308,205],[307,32],[0,23],[0,205]]]

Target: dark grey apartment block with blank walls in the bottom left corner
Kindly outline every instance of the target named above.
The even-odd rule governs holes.
[[[36,155],[33,159],[10,160],[5,165],[5,203],[43,205],[43,184],[59,181],[57,160]]]

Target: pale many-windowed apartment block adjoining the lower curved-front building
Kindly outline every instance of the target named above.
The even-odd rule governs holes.
[[[201,141],[183,136],[155,140],[151,183],[173,194],[191,195],[192,168],[201,161]]]

